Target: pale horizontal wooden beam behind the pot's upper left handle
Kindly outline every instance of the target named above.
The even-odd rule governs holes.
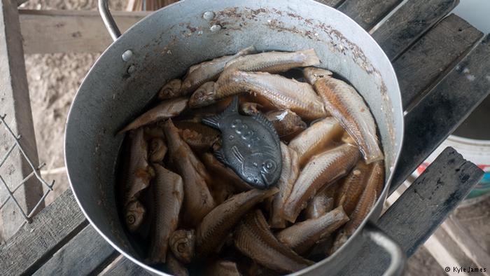
[[[121,32],[150,12],[114,11]],[[97,11],[20,11],[25,53],[98,53],[112,43]]]

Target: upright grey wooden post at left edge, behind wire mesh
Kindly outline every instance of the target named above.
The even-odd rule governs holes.
[[[15,134],[22,135],[20,144],[35,167],[38,166],[36,137],[32,123],[31,102],[25,71],[22,36],[20,35],[17,5],[11,0],[0,0],[0,116],[7,114],[6,121]],[[13,145],[14,139],[0,125],[0,156]],[[13,190],[22,179],[32,172],[19,149],[14,149],[0,168],[2,179]],[[8,198],[8,191],[0,184],[0,202]],[[35,178],[29,179],[14,193],[19,206],[29,214],[43,197],[43,187]],[[25,222],[18,205],[9,200],[1,209],[0,235],[10,238]],[[40,208],[43,207],[43,203]]]

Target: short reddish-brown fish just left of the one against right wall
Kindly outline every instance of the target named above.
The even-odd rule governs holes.
[[[360,195],[363,194],[367,184],[370,171],[371,166],[366,165],[364,160],[360,160],[349,175],[342,179],[342,184],[339,187],[339,191],[337,191],[335,206],[344,207],[347,216],[350,216],[356,208]]]

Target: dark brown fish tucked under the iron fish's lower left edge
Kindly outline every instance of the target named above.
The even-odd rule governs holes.
[[[215,177],[220,178],[223,184],[235,187],[236,191],[243,192],[248,191],[252,187],[246,184],[245,181],[233,172],[232,169],[226,167],[221,163],[212,153],[204,153],[202,155],[202,162],[207,169],[214,174]]]

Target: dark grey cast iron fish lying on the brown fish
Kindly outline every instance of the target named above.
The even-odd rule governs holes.
[[[238,106],[234,97],[223,113],[203,118],[202,123],[221,130],[223,146],[215,152],[218,160],[251,186],[269,188],[281,175],[279,135],[262,114],[243,116]]]

